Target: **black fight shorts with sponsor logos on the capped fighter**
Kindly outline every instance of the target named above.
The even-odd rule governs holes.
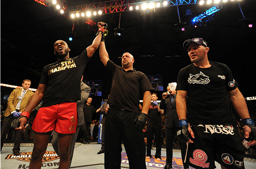
[[[193,124],[194,143],[188,143],[185,163],[196,169],[214,169],[215,162],[227,169],[244,169],[245,150],[238,126]]]

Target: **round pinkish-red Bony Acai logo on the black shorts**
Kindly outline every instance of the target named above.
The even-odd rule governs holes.
[[[209,168],[210,163],[205,163],[207,161],[207,155],[203,150],[196,149],[193,152],[193,158],[189,158],[190,163],[203,168]]]

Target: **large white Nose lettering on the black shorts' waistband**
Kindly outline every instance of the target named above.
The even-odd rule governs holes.
[[[204,133],[221,133],[234,135],[233,126],[231,125],[210,125],[210,124],[199,124],[198,127],[205,127]]]

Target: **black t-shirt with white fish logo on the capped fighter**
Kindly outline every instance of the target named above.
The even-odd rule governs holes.
[[[187,91],[188,122],[236,125],[227,92],[236,89],[238,84],[228,66],[210,63],[208,68],[192,63],[179,72],[176,91]]]

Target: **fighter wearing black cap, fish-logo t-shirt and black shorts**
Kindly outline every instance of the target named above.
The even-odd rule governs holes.
[[[214,169],[217,161],[222,169],[244,169],[245,152],[231,102],[245,125],[245,138],[249,134],[253,138],[249,146],[256,144],[256,129],[237,82],[228,66],[208,60],[210,48],[202,38],[187,40],[183,47],[192,62],[180,70],[176,87],[177,136],[190,143],[185,163],[197,169]]]

